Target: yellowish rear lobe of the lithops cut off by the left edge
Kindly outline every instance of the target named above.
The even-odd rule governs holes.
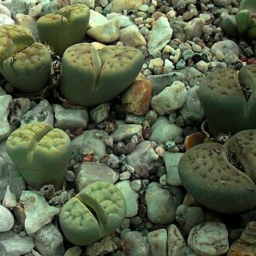
[[[0,71],[2,62],[36,42],[33,34],[22,25],[0,26]]]

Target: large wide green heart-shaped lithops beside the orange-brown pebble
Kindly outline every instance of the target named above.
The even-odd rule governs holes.
[[[134,47],[103,47],[77,43],[65,50],[62,59],[61,95],[81,106],[108,102],[134,81],[144,57]]]

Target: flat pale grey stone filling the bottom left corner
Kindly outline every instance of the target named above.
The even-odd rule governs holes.
[[[4,248],[1,248],[1,246]],[[2,254],[3,256],[27,254],[33,250],[33,247],[35,247],[33,237],[20,236],[12,230],[4,233],[0,232],[0,253],[2,254],[2,251],[6,252],[6,254]]]

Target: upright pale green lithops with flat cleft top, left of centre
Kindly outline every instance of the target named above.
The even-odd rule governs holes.
[[[62,188],[71,156],[71,140],[47,123],[29,123],[11,133],[6,151],[22,178],[33,189],[43,185]]]

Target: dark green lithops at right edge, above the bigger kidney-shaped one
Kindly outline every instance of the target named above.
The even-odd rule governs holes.
[[[221,68],[208,74],[199,87],[199,99],[209,133],[237,133],[256,128],[256,65]]]

